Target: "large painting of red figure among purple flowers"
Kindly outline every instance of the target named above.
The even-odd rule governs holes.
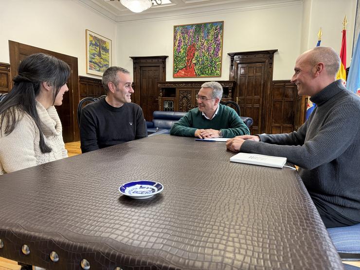
[[[174,78],[220,77],[224,21],[174,26]]]

